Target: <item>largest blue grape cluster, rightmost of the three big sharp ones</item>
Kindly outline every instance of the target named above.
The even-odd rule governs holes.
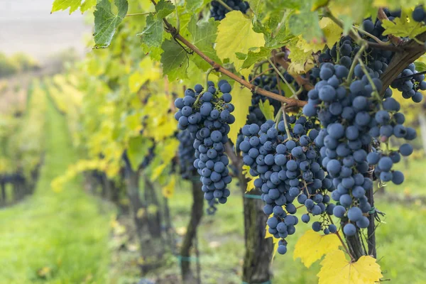
[[[332,199],[339,205],[334,207],[334,216],[350,221],[344,224],[346,236],[354,236],[356,227],[362,229],[369,224],[368,218],[363,216],[371,210],[366,191],[373,190],[373,181],[365,177],[369,165],[376,165],[377,178],[400,184],[403,174],[392,170],[392,165],[400,160],[399,153],[410,155],[413,152],[409,144],[390,153],[379,148],[368,153],[368,146],[375,141],[385,143],[391,136],[415,138],[415,130],[403,126],[405,118],[398,113],[400,105],[391,97],[390,89],[385,99],[379,97],[382,83],[378,73],[368,67],[366,70],[368,75],[361,65],[356,65],[354,80],[346,89],[342,83],[350,77],[348,68],[323,63],[320,67],[322,81],[308,93],[308,104],[303,108],[305,115],[317,115],[324,127],[315,138],[315,144],[321,147],[322,166],[333,178],[336,188],[332,191]]]

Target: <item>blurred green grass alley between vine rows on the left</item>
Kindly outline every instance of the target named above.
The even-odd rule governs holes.
[[[113,212],[84,192],[79,179],[62,192],[50,188],[77,154],[65,117],[51,103],[47,119],[45,164],[35,194],[0,210],[0,283],[105,283]]]

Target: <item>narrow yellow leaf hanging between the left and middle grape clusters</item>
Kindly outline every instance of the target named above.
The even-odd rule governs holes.
[[[229,138],[234,144],[236,143],[236,137],[238,133],[246,124],[247,115],[249,114],[249,107],[251,106],[251,91],[245,87],[241,88],[240,84],[235,82],[232,94],[232,104],[235,106],[235,110],[232,113],[235,116],[234,124],[231,124],[229,130]]]

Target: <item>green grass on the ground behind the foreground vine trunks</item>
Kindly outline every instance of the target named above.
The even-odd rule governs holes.
[[[420,175],[426,161],[413,161],[410,169]],[[424,175],[422,175],[424,176]],[[417,178],[416,189],[426,187],[426,182]],[[407,187],[415,185],[407,180]],[[400,187],[388,185],[388,192],[398,192]],[[183,189],[185,188],[185,190]],[[190,192],[187,186],[176,190],[169,204],[172,207],[174,225],[186,226],[189,219]],[[420,193],[420,192],[419,192]],[[426,255],[424,240],[426,228],[426,207],[420,204],[399,204],[381,201],[377,197],[376,207],[385,212],[382,224],[377,229],[378,263],[384,278],[391,278],[392,283],[425,283]],[[241,263],[244,256],[243,208],[238,190],[232,190],[229,201],[219,206],[214,216],[204,215],[199,229],[200,255],[203,283],[241,283]],[[293,260],[293,250],[299,236],[310,225],[300,222],[296,234],[288,237],[288,253],[276,255],[273,261],[273,284],[317,283],[320,261],[310,268],[305,268],[300,259]],[[306,248],[309,250],[310,248]],[[178,273],[178,261],[165,273]]]

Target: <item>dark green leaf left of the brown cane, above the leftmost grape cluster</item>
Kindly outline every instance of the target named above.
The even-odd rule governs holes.
[[[161,49],[161,63],[163,63],[163,75],[168,75],[170,81],[186,78],[188,67],[187,52],[178,45],[175,40],[164,40]]]

